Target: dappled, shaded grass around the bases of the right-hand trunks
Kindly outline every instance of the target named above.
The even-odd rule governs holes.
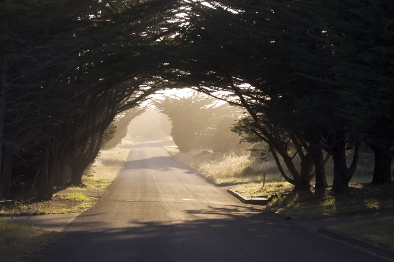
[[[327,191],[284,193],[269,204],[272,211],[301,219],[375,212],[394,208],[394,186],[351,185],[346,195]]]

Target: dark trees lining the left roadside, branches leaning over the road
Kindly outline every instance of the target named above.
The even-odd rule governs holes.
[[[12,169],[21,156],[36,161],[31,188],[37,181],[39,200],[51,198],[64,166],[74,170],[72,184],[80,184],[114,117],[163,87],[150,70],[166,59],[157,57],[172,35],[163,28],[178,24],[168,22],[176,9],[174,1],[154,0],[0,4],[1,59],[7,61],[1,198],[10,196]]]

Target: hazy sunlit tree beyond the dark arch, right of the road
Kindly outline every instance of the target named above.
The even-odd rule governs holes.
[[[171,136],[182,152],[213,148],[216,152],[239,148],[239,137],[230,131],[242,115],[238,107],[218,105],[214,99],[194,93],[190,97],[166,97],[154,101],[171,120]]]

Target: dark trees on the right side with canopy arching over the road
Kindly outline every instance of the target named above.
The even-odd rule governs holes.
[[[345,192],[361,142],[375,152],[373,183],[390,183],[393,8],[386,0],[190,4],[165,76],[245,108],[235,131],[265,141],[295,189],[309,190],[315,176],[317,188],[327,186],[325,150],[332,191]]]

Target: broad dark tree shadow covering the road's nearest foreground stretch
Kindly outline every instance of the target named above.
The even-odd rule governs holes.
[[[379,261],[261,210],[227,206],[178,212],[174,219],[168,219],[170,212],[150,218],[131,212],[130,219],[119,213],[105,222],[103,216],[82,215],[35,262]]]

